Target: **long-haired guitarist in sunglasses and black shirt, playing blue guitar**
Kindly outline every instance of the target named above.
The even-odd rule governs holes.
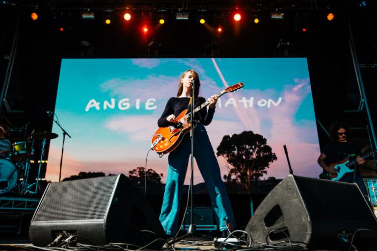
[[[320,177],[353,183],[353,176],[355,175],[354,182],[359,186],[363,195],[367,196],[367,189],[357,168],[355,174],[352,169],[353,165],[349,166],[351,168],[349,171],[351,172],[344,174],[341,172],[342,168],[343,170],[347,169],[342,164],[345,161],[353,160],[357,165],[364,164],[365,162],[365,159],[360,157],[360,155],[356,156],[355,147],[347,138],[348,131],[349,128],[344,123],[334,123],[331,125],[329,132],[330,142],[324,146],[318,158],[318,164],[323,168],[323,174]]]

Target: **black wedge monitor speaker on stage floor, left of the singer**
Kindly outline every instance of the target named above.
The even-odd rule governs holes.
[[[29,237],[33,245],[46,247],[60,233],[82,236],[95,245],[143,246],[164,237],[157,215],[124,175],[50,183],[31,220]]]

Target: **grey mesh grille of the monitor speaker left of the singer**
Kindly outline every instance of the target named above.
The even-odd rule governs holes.
[[[104,220],[117,179],[107,176],[50,184],[34,221]]]

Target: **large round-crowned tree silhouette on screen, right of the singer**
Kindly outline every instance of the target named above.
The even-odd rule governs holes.
[[[269,164],[277,157],[267,145],[267,139],[252,131],[225,135],[217,147],[217,156],[223,156],[228,166],[227,183],[239,183],[250,193],[251,182],[267,174]]]

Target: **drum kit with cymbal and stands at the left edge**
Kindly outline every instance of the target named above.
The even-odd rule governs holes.
[[[37,194],[40,189],[40,174],[42,164],[45,162],[46,142],[56,138],[58,135],[53,132],[36,132],[32,133],[27,141],[15,142],[12,144],[9,157],[0,159],[0,194],[13,192],[19,195]],[[29,177],[32,169],[31,163],[35,159],[34,142],[42,141],[40,144],[41,155],[37,161],[37,176],[34,179]],[[29,180],[31,179],[31,180]]]

